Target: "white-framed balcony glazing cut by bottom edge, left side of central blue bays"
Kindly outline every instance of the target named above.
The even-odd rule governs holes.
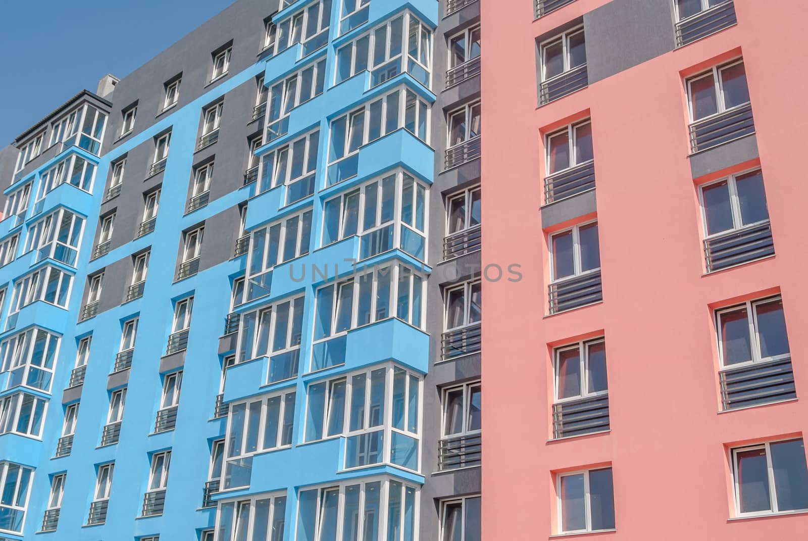
[[[286,539],[286,495],[258,494],[238,501],[222,501],[217,513],[221,539],[282,541]],[[202,541],[204,541],[204,537]],[[213,541],[211,535],[210,541]],[[325,541],[325,539],[323,539]]]

